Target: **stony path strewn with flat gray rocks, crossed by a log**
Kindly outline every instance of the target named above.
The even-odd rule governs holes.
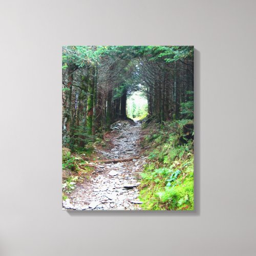
[[[112,126],[111,151],[98,151],[102,158],[132,158],[140,156],[140,124],[121,121]],[[101,163],[96,177],[78,185],[63,207],[73,210],[135,210],[141,209],[137,186],[139,173],[145,164],[143,157],[129,162]]]

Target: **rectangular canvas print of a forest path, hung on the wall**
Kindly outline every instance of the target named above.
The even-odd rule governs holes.
[[[62,209],[194,210],[193,46],[62,47]]]

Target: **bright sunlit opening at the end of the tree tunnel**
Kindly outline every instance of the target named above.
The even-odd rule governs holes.
[[[127,116],[135,121],[147,116],[147,99],[142,92],[134,92],[127,98]]]

